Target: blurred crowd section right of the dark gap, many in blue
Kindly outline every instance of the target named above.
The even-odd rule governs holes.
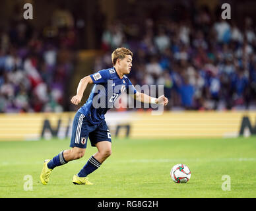
[[[253,109],[255,24],[243,18],[238,26],[202,8],[186,20],[119,19],[104,30],[105,53],[94,69],[112,67],[112,50],[128,47],[134,53],[131,82],[164,85],[167,109]]]

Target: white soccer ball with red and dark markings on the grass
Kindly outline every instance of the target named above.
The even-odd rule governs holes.
[[[177,164],[172,167],[170,176],[175,183],[187,183],[191,177],[191,171],[188,166]]]

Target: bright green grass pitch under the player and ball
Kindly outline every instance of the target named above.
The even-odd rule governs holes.
[[[69,148],[69,140],[0,142],[0,197],[256,197],[255,137],[113,138],[112,143],[112,156],[88,176],[95,185],[72,183],[96,152],[89,143],[83,158],[56,167],[48,185],[42,185],[44,160]],[[172,166],[179,163],[191,169],[188,183],[170,178]],[[25,175],[32,176],[32,191],[24,189]],[[222,190],[227,187],[223,175],[230,177],[230,191]]]

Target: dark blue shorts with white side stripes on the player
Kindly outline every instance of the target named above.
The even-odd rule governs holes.
[[[90,139],[91,146],[95,146],[100,141],[107,140],[111,142],[110,130],[106,121],[92,125],[84,114],[77,112],[73,120],[73,129],[71,143],[69,146],[86,148],[87,140]]]

